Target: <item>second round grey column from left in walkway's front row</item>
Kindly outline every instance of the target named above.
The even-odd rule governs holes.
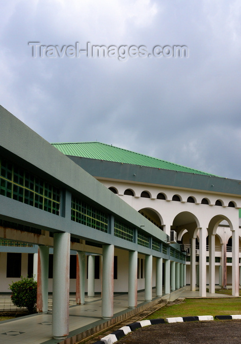
[[[103,245],[102,317],[113,317],[114,245]]]

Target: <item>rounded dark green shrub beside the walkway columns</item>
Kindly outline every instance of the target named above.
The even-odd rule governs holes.
[[[21,276],[21,280],[9,285],[12,290],[11,300],[17,307],[26,307],[30,314],[35,313],[37,303],[37,282],[33,277]]]

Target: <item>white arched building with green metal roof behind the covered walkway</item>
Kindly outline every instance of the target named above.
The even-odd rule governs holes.
[[[53,145],[165,233],[176,232],[177,242],[187,253],[186,283],[191,290],[200,286],[200,296],[205,296],[206,284],[210,292],[215,285],[232,285],[233,259],[238,259],[236,273],[241,270],[239,180],[104,143]]]

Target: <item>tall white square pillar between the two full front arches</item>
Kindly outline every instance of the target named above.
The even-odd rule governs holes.
[[[207,260],[206,260],[207,229],[199,228],[199,296],[207,295]]]

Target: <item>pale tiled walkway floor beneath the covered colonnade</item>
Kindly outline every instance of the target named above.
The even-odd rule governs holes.
[[[184,287],[164,295],[162,299],[174,301],[178,297],[198,297],[198,291],[190,291],[189,287]],[[209,297],[228,297],[222,294],[209,294]],[[155,289],[153,290],[155,298]],[[70,299],[74,299],[71,295]],[[138,292],[138,306],[145,303],[144,291]],[[96,325],[104,323],[106,320],[101,317],[101,298],[86,297],[84,305],[70,306],[69,331],[70,337],[86,331]],[[128,295],[114,295],[114,316],[129,312]],[[0,344],[56,344],[59,340],[52,338],[52,313],[27,315],[0,322]]]

